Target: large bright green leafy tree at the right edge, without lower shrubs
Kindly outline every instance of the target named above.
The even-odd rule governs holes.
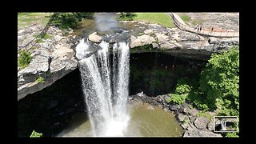
[[[222,54],[212,54],[202,71],[199,90],[202,90],[206,105],[218,108],[224,115],[239,112],[239,50],[234,46]]]

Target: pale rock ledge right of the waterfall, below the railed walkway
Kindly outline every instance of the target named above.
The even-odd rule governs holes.
[[[146,23],[140,22],[142,27]],[[138,36],[130,36],[130,48],[152,45],[151,50],[162,51],[166,54],[182,58],[208,60],[210,54],[229,50],[232,46],[239,46],[239,38],[212,38],[179,30],[178,28],[163,28],[155,25],[148,26]],[[146,52],[145,50],[143,50]]]

